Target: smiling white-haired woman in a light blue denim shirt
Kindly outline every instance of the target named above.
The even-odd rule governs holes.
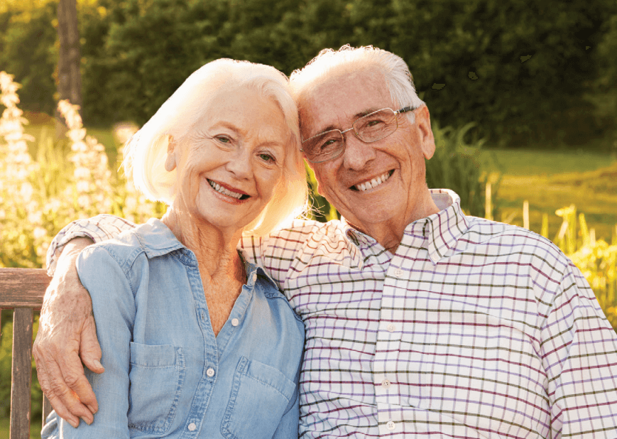
[[[133,136],[133,180],[168,211],[80,254],[99,411],[77,429],[52,412],[43,438],[297,437],[304,327],[236,245],[305,207],[298,139],[285,76],[233,60],[193,73]]]

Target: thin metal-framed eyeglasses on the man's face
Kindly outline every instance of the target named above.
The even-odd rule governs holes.
[[[398,114],[412,112],[415,108],[405,107],[394,111],[391,108],[382,108],[376,112],[366,114],[356,119],[351,128],[341,131],[332,129],[312,136],[302,141],[302,151],[311,163],[323,163],[340,156],[345,151],[343,134],[354,131],[358,139],[364,143],[371,143],[390,136],[398,128]],[[413,124],[413,119],[412,122]]]

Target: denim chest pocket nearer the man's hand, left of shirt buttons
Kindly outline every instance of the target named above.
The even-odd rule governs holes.
[[[131,342],[129,428],[166,433],[178,408],[185,372],[181,347]]]

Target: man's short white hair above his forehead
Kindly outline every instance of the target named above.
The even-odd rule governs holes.
[[[301,107],[306,92],[334,75],[370,69],[381,72],[398,107],[417,108],[424,105],[422,99],[417,97],[413,77],[403,58],[372,45],[352,48],[349,44],[339,50],[324,49],[305,67],[293,71],[290,85],[295,102]],[[413,113],[405,115],[413,117]]]

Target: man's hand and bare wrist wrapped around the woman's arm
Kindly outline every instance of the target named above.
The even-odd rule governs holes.
[[[82,362],[101,374],[101,347],[92,315],[92,300],[75,268],[77,255],[92,241],[73,239],[62,250],[58,268],[45,291],[33,347],[40,388],[58,416],[77,428],[90,424],[99,405]],[[81,361],[80,361],[81,357]]]

